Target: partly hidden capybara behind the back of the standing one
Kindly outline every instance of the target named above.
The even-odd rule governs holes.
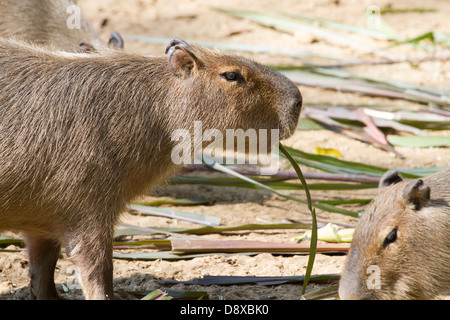
[[[123,48],[117,32],[103,42],[73,0],[0,0],[0,8],[0,37],[67,52]]]

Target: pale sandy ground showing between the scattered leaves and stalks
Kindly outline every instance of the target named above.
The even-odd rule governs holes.
[[[270,11],[272,8],[307,15],[330,18],[342,22],[364,25],[364,11],[369,4],[381,8],[427,7],[435,12],[405,13],[386,15],[386,21],[404,36],[415,36],[429,30],[448,31],[450,3],[444,1],[176,1],[176,0],[129,0],[112,1],[80,0],[83,14],[91,21],[94,28],[105,39],[112,30],[119,31],[125,38],[126,50],[144,54],[162,54],[165,45],[152,45],[127,40],[127,35],[145,35],[152,37],[180,36],[188,41],[208,41],[224,43],[264,44],[296,50],[326,53],[337,57],[356,56],[373,58],[359,51],[316,41],[307,33],[283,34],[263,28],[248,21],[234,19],[218,13],[211,7],[227,7],[255,11]],[[390,51],[399,57],[419,55],[407,46],[400,46]],[[271,54],[244,54],[262,63],[281,64],[296,63],[295,59]],[[376,77],[386,77],[401,81],[427,84],[449,89],[447,81],[450,76],[450,63],[426,62],[418,66],[410,64],[359,66],[351,71]],[[300,87],[304,101],[307,103],[345,103],[345,104],[385,104],[411,105],[405,101],[393,101],[382,98],[361,97],[348,93]],[[450,131],[440,132],[449,135]],[[387,168],[414,168],[428,166],[446,166],[450,159],[448,148],[397,148],[404,159],[394,158],[384,151],[354,139],[330,131],[297,131],[293,137],[284,142],[288,146],[307,152],[315,152],[316,147],[334,148],[341,152],[345,160],[361,161]],[[303,169],[308,171],[307,169]],[[302,192],[292,192],[304,197]],[[358,192],[321,192],[312,191],[314,199],[339,199],[352,197],[372,197],[376,190]],[[288,218],[309,218],[305,206],[293,201],[274,196],[266,191],[222,188],[211,186],[163,186],[156,194],[149,194],[146,199],[157,198],[192,198],[203,196],[214,203],[211,206],[183,207],[181,210],[220,217],[222,226],[246,223],[279,223]],[[170,207],[170,206],[169,206]],[[177,208],[180,209],[180,208]],[[363,207],[352,207],[363,209]],[[354,224],[356,219],[339,214],[318,211],[319,219]],[[178,220],[143,217],[126,213],[123,222],[147,227],[196,227],[196,225]],[[229,235],[210,235],[214,239],[251,239],[273,242],[289,242],[303,230],[276,230],[272,232],[235,232]],[[19,249],[11,246],[9,249]],[[339,274],[344,264],[344,255],[318,254],[313,274]],[[308,256],[306,255],[272,255],[262,253],[255,256],[223,256],[220,254],[183,261],[125,261],[114,260],[114,284],[119,298],[132,299],[126,291],[143,290],[190,290],[206,291],[210,299],[264,299],[285,300],[299,299],[301,285],[284,284],[277,286],[192,286],[182,284],[165,284],[159,280],[190,280],[204,275],[236,276],[291,276],[304,275]],[[65,298],[81,299],[80,290],[63,292],[62,284],[68,285],[73,278],[68,269],[72,263],[65,255],[58,262],[56,282],[58,290]],[[0,253],[0,299],[28,299],[28,261],[25,252]],[[308,285],[307,292],[318,288],[316,284]]]

